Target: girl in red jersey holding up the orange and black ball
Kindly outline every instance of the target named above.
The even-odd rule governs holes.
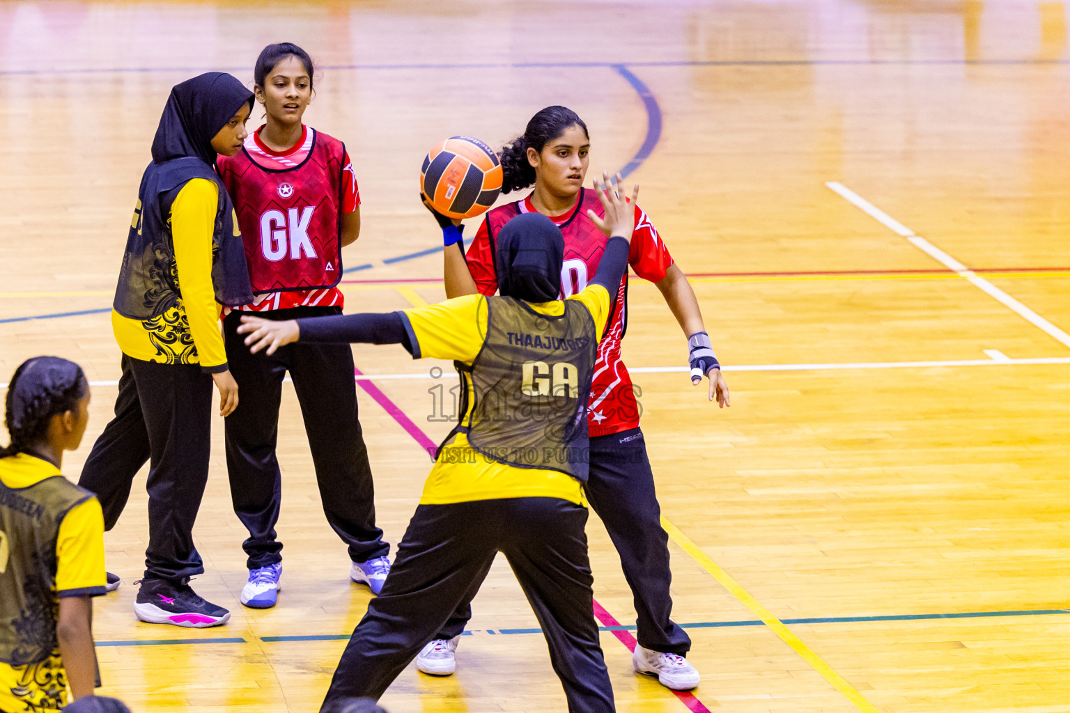
[[[498,288],[494,253],[501,229],[522,213],[541,213],[553,220],[565,237],[562,266],[563,296],[586,286],[598,268],[606,237],[588,216],[601,216],[594,191],[583,188],[591,141],[586,124],[565,107],[547,107],[528,123],[524,134],[502,149],[504,184],[509,192],[534,184],[526,198],[489,211],[475,241],[463,252],[460,231],[443,227],[446,296],[493,294]],[[687,277],[674,263],[646,214],[636,205],[636,230],[628,263],[640,277],[654,282],[679,322],[688,340],[693,384],[709,377],[709,400],[729,405],[729,389],[702,313]],[[440,220],[440,222],[442,222]],[[450,247],[456,245],[457,247]],[[657,676],[670,688],[693,688],[699,672],[684,657],[691,640],[670,618],[669,536],[660,524],[654,475],[639,428],[639,405],[628,370],[621,360],[621,339],[627,324],[627,274],[622,278],[615,305],[598,346],[587,416],[591,429],[591,475],[586,495],[621,556],[638,613],[632,663],[637,671]],[[457,636],[471,609],[465,604],[447,622],[435,640],[417,657],[417,667],[429,673],[452,673]]]

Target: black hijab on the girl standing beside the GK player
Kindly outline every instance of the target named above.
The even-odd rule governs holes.
[[[152,140],[153,162],[196,156],[214,166],[212,137],[245,104],[251,109],[253,92],[225,72],[205,72],[175,84]]]

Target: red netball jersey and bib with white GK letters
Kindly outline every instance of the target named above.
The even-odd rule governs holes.
[[[219,177],[245,241],[253,292],[261,298],[264,293],[325,290],[341,279],[346,146],[311,129],[303,138],[297,143],[301,149],[308,143],[306,151],[276,155],[273,161],[257,160],[248,146],[218,158]],[[292,153],[303,154],[303,160],[286,160]]]

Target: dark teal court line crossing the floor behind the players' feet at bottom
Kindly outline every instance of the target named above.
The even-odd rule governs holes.
[[[858,617],[810,617],[806,619],[781,619],[785,624],[842,624],[842,623],[867,623],[882,621],[932,621],[946,619],[978,619],[998,617],[1038,617],[1050,615],[1070,614],[1070,609],[1010,609],[1006,611],[954,611],[950,614],[889,614]],[[764,626],[765,622],[760,619],[745,619],[739,621],[696,621],[679,623],[681,629],[737,629],[743,626]],[[610,624],[598,627],[599,632],[612,633],[615,631],[636,631],[635,624]],[[461,636],[473,636],[475,634],[503,634],[506,636],[521,634],[541,634],[538,626],[529,629],[465,629]],[[352,634],[296,634],[292,636],[259,636],[260,641],[265,644],[279,644],[286,641],[341,641],[352,637]],[[217,639],[129,639],[126,641],[97,641],[100,647],[123,647],[123,646],[181,646],[185,644],[248,644],[244,638],[217,638]]]

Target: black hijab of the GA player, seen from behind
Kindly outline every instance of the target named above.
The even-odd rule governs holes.
[[[541,213],[522,213],[498,234],[494,269],[503,297],[548,303],[561,294],[565,238]]]

